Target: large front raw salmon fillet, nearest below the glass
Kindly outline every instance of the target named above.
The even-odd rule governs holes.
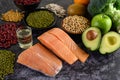
[[[47,76],[55,76],[62,68],[62,62],[39,43],[23,51],[17,62]]]

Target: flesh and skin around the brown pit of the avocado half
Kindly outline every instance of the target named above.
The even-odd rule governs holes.
[[[90,30],[94,30],[97,32],[97,37],[94,40],[87,39],[87,32]],[[90,49],[91,51],[98,50],[101,42],[101,31],[97,27],[89,27],[86,29],[82,34],[82,42],[86,48]]]

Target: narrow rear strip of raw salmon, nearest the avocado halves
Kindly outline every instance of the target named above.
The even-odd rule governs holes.
[[[48,33],[56,36],[63,44],[65,44],[81,62],[85,62],[89,56],[71,39],[71,37],[60,28],[53,28]]]

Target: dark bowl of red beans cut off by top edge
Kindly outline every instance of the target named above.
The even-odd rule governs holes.
[[[29,11],[37,8],[41,0],[14,0],[15,5],[24,11]]]

